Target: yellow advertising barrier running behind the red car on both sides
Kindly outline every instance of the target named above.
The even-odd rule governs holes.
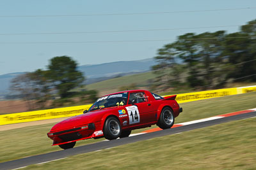
[[[243,94],[247,92],[255,92],[255,86],[237,87],[230,89],[207,90],[202,92],[192,92],[186,94],[177,94],[178,103],[186,103],[190,101],[198,101],[203,99],[211,99],[214,97],[230,96],[234,94]],[[22,113],[12,113],[0,115],[0,125],[17,124],[22,122],[32,122],[36,120],[46,120],[52,118],[72,117],[80,115],[84,110],[88,110],[91,104],[83,106],[74,106],[67,108],[57,108],[51,110],[28,111]]]

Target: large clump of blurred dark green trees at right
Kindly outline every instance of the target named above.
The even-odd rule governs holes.
[[[256,20],[232,34],[225,31],[183,34],[158,50],[157,65],[152,67],[157,74],[155,85],[175,87],[175,83],[177,86],[180,79],[186,78],[190,87],[207,89],[223,87],[232,79],[256,81],[256,76],[251,76],[256,73],[255,36]],[[177,58],[179,62],[175,62]]]

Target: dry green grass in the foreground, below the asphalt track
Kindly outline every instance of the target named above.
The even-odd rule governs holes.
[[[238,120],[24,169],[256,169],[255,130]]]

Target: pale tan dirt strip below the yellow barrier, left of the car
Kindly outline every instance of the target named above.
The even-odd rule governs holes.
[[[49,120],[38,120],[34,122],[25,122],[25,123],[20,123],[20,124],[10,124],[10,125],[0,125],[0,131],[7,131],[11,129],[17,129],[21,127],[28,127],[28,126],[33,126],[33,125],[44,125],[44,124],[51,124],[51,123],[56,123],[60,122],[61,120],[65,120],[68,117],[65,118],[53,118]]]

